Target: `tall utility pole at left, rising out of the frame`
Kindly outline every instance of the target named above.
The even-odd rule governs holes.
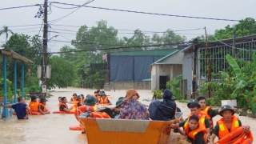
[[[46,67],[47,67],[47,40],[48,40],[48,22],[47,22],[47,11],[48,0],[44,2],[44,26],[43,26],[43,41],[42,41],[42,89],[45,95],[47,94],[47,78],[46,78]]]

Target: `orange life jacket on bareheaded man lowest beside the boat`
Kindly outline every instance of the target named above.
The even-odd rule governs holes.
[[[198,122],[198,129],[196,130],[190,130],[190,126],[189,126],[189,119],[185,122],[183,129],[185,130],[186,135],[189,138],[192,138],[193,141],[195,141],[195,136],[199,133],[202,132],[203,133],[203,139],[206,140],[206,126],[204,125],[204,120],[205,120],[205,116],[202,116],[199,119]],[[203,123],[202,123],[203,122]]]

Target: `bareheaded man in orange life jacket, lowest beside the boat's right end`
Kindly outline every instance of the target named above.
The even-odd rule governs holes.
[[[190,116],[183,126],[183,130],[180,130],[180,133],[187,136],[192,144],[206,143],[206,127],[202,122],[199,122],[199,118],[195,115]]]

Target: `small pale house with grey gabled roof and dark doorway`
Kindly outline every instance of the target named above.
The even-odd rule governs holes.
[[[183,52],[175,50],[150,65],[151,90],[166,89],[166,82],[182,74]]]

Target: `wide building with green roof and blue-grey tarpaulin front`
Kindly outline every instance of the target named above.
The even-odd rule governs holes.
[[[110,89],[150,90],[150,65],[176,50],[139,50],[108,54]]]

